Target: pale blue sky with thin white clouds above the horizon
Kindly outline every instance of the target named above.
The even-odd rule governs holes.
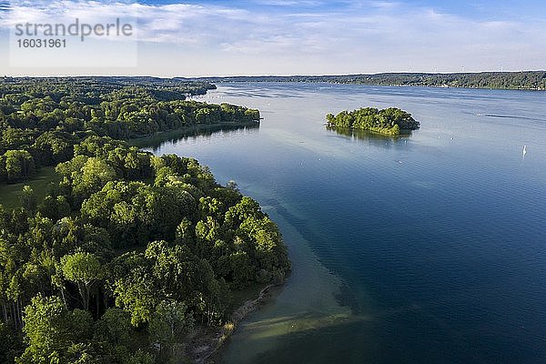
[[[119,18],[134,33],[72,37],[63,49],[17,47],[25,38],[14,35],[17,24],[76,18]],[[480,72],[545,63],[543,0],[0,0],[0,75],[8,76]]]

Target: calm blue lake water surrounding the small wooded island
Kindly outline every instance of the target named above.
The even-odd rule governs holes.
[[[237,181],[294,265],[224,362],[546,362],[546,93],[248,83],[202,99],[264,120],[154,152]],[[323,126],[361,106],[400,107],[421,128]]]

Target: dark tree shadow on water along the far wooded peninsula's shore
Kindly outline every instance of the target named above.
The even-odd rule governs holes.
[[[179,140],[196,138],[197,136],[212,136],[217,133],[232,133],[235,131],[254,132],[258,131],[259,123],[248,122],[246,124],[213,124],[185,127],[178,130],[157,133],[154,136],[146,136],[129,141],[131,146],[151,148],[154,152],[160,149],[165,143],[176,143]]]

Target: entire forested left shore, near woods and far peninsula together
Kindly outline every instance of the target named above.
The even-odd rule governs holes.
[[[200,333],[212,352],[233,329],[235,293],[283,281],[287,248],[256,201],[193,158],[121,140],[258,110],[184,101],[211,86],[155,79],[0,85],[3,181],[46,165],[60,178],[0,205],[1,363],[188,362]]]

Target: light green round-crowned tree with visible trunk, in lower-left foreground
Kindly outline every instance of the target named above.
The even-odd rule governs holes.
[[[61,258],[63,275],[76,283],[84,308],[89,309],[91,292],[104,278],[104,268],[91,253],[75,253]]]

